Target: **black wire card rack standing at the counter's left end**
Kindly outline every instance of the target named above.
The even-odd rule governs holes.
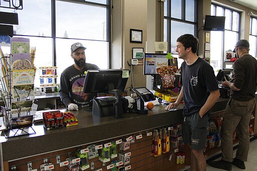
[[[2,56],[2,68],[0,73],[2,83],[1,95],[5,106],[1,106],[4,123],[1,130],[3,130],[6,138],[36,134],[36,131],[32,127],[34,118],[33,112],[37,110],[34,106],[34,80],[33,85],[30,87],[27,85],[14,86],[15,73],[11,65],[13,55],[9,54],[4,56],[2,53]],[[34,58],[34,56],[35,54],[31,54],[32,58]],[[35,69],[32,70],[34,70],[35,74]],[[32,77],[34,79],[34,75]],[[24,89],[20,89],[20,87]],[[28,94],[26,96],[24,96],[25,91]],[[21,95],[19,92],[23,94]]]

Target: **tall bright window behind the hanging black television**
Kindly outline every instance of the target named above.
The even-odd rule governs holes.
[[[225,30],[210,32],[210,65],[217,74],[221,68],[232,67],[231,63],[224,62],[224,55],[225,51],[233,51],[239,39],[239,13],[212,4],[211,16],[225,16]]]

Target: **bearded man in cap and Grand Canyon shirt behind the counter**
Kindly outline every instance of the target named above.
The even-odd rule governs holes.
[[[81,43],[71,45],[71,58],[74,64],[66,68],[60,78],[59,94],[69,110],[78,110],[78,106],[89,106],[91,94],[83,92],[85,71],[99,69],[94,64],[86,63],[85,47]]]

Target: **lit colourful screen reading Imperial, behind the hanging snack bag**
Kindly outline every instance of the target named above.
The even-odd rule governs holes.
[[[167,54],[145,53],[144,56],[144,75],[155,75],[157,68],[169,65]]]

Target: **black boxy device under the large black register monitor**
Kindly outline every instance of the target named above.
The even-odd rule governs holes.
[[[114,103],[116,101],[115,96],[96,97],[93,99],[93,115],[104,117],[115,114]]]

